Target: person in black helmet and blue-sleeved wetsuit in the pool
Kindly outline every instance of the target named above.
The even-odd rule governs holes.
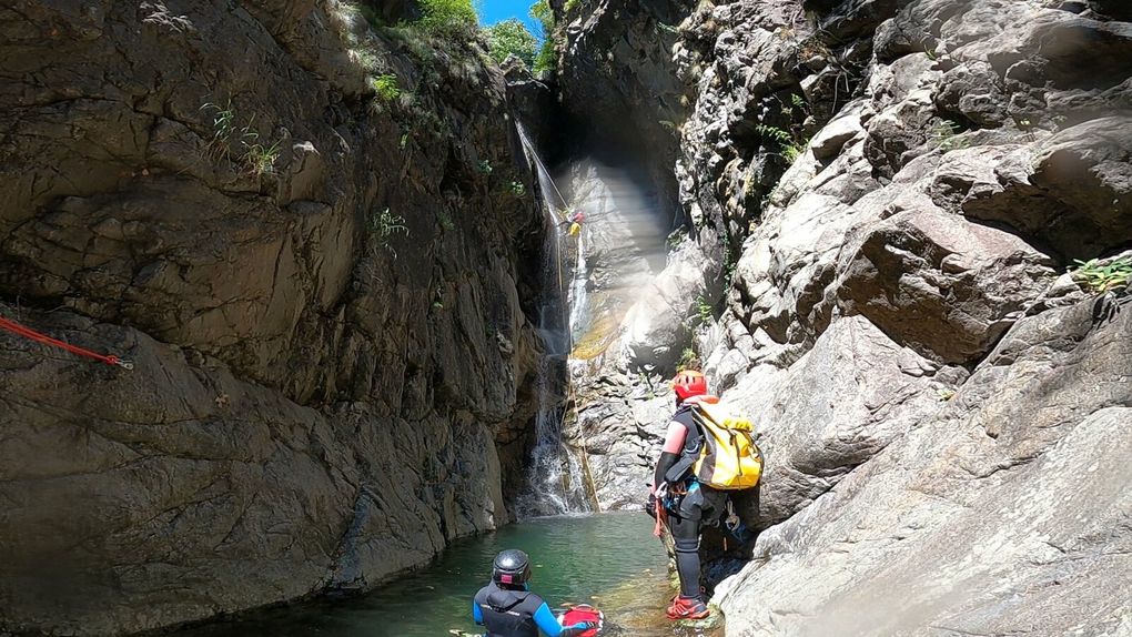
[[[531,560],[517,549],[496,556],[491,582],[475,593],[472,619],[487,628],[484,637],[575,637],[599,627],[582,621],[563,626],[542,597],[528,589]]]

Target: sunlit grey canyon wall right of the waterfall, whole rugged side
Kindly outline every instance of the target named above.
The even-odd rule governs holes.
[[[599,500],[631,507],[670,352],[754,416],[760,534],[717,588],[728,635],[1132,630],[1129,296],[1065,274],[1132,241],[1117,5],[701,3],[600,71],[668,55],[694,227],[653,284],[687,282],[668,312],[626,315],[661,328],[626,318],[575,363],[572,436]],[[618,50],[608,12],[569,16],[567,68],[576,43]]]

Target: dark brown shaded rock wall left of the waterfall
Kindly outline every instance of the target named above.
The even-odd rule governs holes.
[[[0,632],[365,588],[509,519],[544,230],[477,44],[334,0],[28,0],[0,41],[0,315],[136,365],[0,335]]]

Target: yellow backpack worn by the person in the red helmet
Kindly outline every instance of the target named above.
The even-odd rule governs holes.
[[[763,453],[755,445],[751,420],[720,403],[697,402],[700,454],[692,465],[702,484],[723,490],[753,489],[763,475]]]

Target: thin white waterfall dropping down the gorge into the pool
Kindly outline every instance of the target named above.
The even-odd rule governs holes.
[[[571,299],[566,298],[566,276],[571,268],[564,262],[568,250],[564,247],[560,210],[566,208],[565,198],[555,186],[542,158],[531,143],[522,122],[515,128],[523,144],[528,161],[534,166],[542,193],[542,209],[546,215],[547,236],[542,250],[541,286],[539,304],[539,335],[543,343],[543,355],[539,361],[538,396],[539,411],[534,419],[534,445],[531,449],[526,475],[526,491],[515,501],[515,514],[523,517],[580,513],[590,510],[585,492],[582,464],[563,442],[563,420],[566,415],[566,396],[560,391],[569,382],[566,369],[573,338],[571,335]],[[557,201],[556,201],[557,199]],[[578,238],[578,261],[584,262]],[[578,269],[582,269],[581,267]],[[584,281],[583,281],[584,290]],[[571,282],[571,296],[575,282]]]

